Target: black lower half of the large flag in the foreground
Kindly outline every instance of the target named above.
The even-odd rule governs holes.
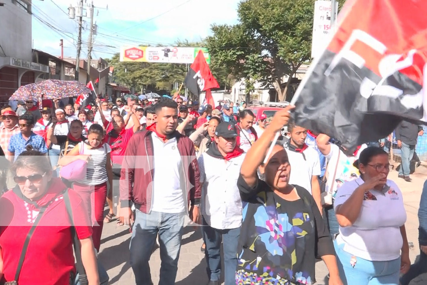
[[[310,81],[303,86],[295,103],[294,118],[298,126],[325,133],[352,153],[360,144],[385,138],[402,119],[422,118],[421,109],[408,109],[399,100],[382,95],[371,95],[368,99],[361,96],[363,78],[381,80],[368,68],[358,68],[341,59],[328,76],[323,76],[335,55],[326,50]],[[399,72],[389,76],[383,85],[403,89],[405,95],[418,94],[422,88]]]

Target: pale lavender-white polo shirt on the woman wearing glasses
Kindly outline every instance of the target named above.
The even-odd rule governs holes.
[[[353,194],[363,179],[345,182],[338,190],[334,209]],[[352,226],[339,226],[338,244],[344,251],[370,261],[390,261],[400,257],[403,244],[400,227],[406,221],[403,197],[398,185],[387,180],[389,190],[366,192],[359,217]]]

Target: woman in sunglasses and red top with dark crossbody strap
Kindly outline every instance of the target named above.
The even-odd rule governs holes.
[[[99,284],[92,229],[79,194],[53,178],[49,160],[31,146],[18,156],[12,172],[17,186],[0,198],[0,279],[19,285],[74,284],[75,231],[88,282]]]

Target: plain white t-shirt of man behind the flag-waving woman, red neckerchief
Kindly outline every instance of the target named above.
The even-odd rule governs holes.
[[[289,184],[301,186],[312,194],[311,179],[313,176],[320,175],[319,154],[312,147],[307,147],[302,153],[289,150],[289,148],[286,152],[291,165]]]

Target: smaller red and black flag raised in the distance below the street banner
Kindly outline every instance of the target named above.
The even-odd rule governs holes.
[[[199,50],[196,59],[194,59],[193,64],[188,69],[184,79],[184,85],[191,93],[197,96],[199,96],[202,91],[211,88],[219,88],[218,82],[216,82],[216,79],[213,77],[202,50]]]

